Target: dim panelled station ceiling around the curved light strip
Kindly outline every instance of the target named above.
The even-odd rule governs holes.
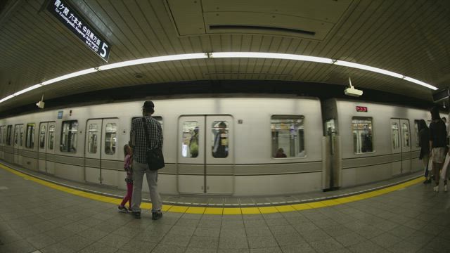
[[[69,4],[111,46],[105,63],[46,6],[0,4],[0,98],[89,67],[180,53],[253,51],[347,60],[450,84],[448,0],[77,0]],[[140,75],[141,78],[136,78]],[[337,65],[274,59],[150,63],[75,77],[11,98],[0,112],[46,99],[137,84],[272,79],[347,85],[431,100],[402,79]],[[326,91],[324,91],[326,92]]]

